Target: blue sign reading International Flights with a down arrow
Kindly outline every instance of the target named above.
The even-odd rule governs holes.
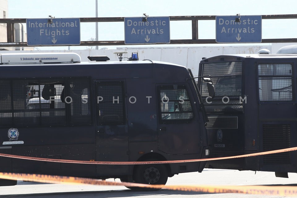
[[[27,19],[27,45],[80,45],[80,18]]]

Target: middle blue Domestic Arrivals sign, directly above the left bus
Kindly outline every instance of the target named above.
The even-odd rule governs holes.
[[[125,17],[125,44],[170,43],[169,17]]]

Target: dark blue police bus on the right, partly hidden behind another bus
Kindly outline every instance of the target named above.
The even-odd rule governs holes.
[[[261,50],[260,50],[261,51]],[[211,157],[235,156],[297,146],[297,54],[219,55],[200,62],[199,75],[211,75],[216,96],[198,86],[209,121]],[[206,167],[297,172],[297,153],[209,161]]]

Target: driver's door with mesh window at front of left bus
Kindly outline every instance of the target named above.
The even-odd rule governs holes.
[[[189,86],[157,85],[157,90],[159,150],[168,154],[200,153],[200,122]]]

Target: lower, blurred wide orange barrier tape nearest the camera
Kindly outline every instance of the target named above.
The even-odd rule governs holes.
[[[65,177],[42,174],[19,174],[19,173],[1,173],[1,179],[11,180],[26,180],[42,183],[64,183],[64,184],[91,184],[91,185],[110,185],[110,186],[129,186],[129,187],[145,187],[145,188],[166,188],[177,191],[192,191],[205,193],[243,193],[255,195],[270,195],[270,196],[297,196],[297,187],[292,186],[212,186],[212,185],[197,185],[197,186],[180,186],[180,185],[149,185],[139,183],[118,183],[100,181],[97,179]]]

